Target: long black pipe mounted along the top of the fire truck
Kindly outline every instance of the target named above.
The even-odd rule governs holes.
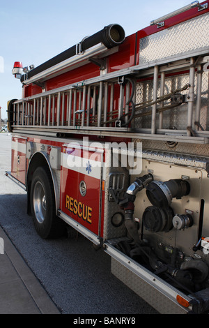
[[[111,48],[115,47],[116,45],[120,45],[125,40],[125,31],[123,30],[123,27],[121,27],[118,24],[110,24],[107,27],[104,27],[101,31],[98,31],[97,33],[93,34],[93,36],[88,36],[87,38],[84,38],[81,42],[81,50],[85,51],[94,45],[97,45],[98,43],[103,43],[105,47]],[[48,61],[45,61],[45,63],[41,64],[40,66],[37,66],[36,68],[33,68],[28,73],[28,78],[33,77],[34,75],[42,72],[43,70],[47,70],[47,68],[50,68],[56,64],[61,63],[61,61],[64,61],[72,56],[75,56],[77,54],[77,45],[73,45],[68,50],[65,50],[61,52],[61,54],[57,54],[52,59],[49,59]]]

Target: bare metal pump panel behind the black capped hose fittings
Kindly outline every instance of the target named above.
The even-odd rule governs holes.
[[[187,253],[187,256],[194,256],[192,247],[195,246],[199,240],[199,225],[201,221],[201,185],[203,182],[203,173],[201,170],[196,170],[195,168],[192,169],[180,167],[171,163],[156,163],[153,161],[144,160],[144,170],[141,172],[141,175],[144,175],[147,172],[152,172],[157,181],[182,179],[182,177],[186,181],[189,181],[189,186],[191,188],[189,195],[182,197],[180,200],[173,198],[171,202],[171,209],[173,209],[174,214],[192,215],[194,223],[191,227],[181,230],[173,228],[172,223],[169,231],[167,229],[163,229],[161,226],[161,231],[155,232],[155,229],[153,229],[152,226],[153,223],[151,222],[146,222],[146,225],[144,224],[144,227],[142,228],[142,218],[144,212],[148,209],[148,207],[152,207],[152,204],[146,196],[146,191],[144,190],[141,195],[137,196],[135,207],[135,214],[141,221],[141,233],[143,234],[144,239],[148,239],[150,244],[153,244],[155,251],[159,249],[160,252],[162,249],[167,248],[167,251],[169,252],[169,247],[176,247],[180,249],[181,252]],[[134,179],[134,177],[132,178]],[[207,216],[207,214],[205,216]]]

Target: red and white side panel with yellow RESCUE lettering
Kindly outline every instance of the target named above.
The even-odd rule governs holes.
[[[92,156],[88,149],[63,147],[61,211],[100,235],[102,154]]]

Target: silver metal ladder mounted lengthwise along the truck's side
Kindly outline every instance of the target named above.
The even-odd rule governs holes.
[[[168,103],[171,96],[176,94],[177,91],[181,92],[188,89],[187,100],[185,101],[187,103],[185,133],[189,137],[192,136],[194,131],[199,131],[201,128],[202,65],[202,58],[197,61],[194,57],[191,57],[189,60],[176,61],[176,65],[172,63],[170,67],[155,65],[146,70],[136,71],[130,69],[130,75],[127,76],[130,76],[134,85],[139,85],[141,80],[149,79],[152,81],[152,87],[151,89],[144,89],[143,92],[147,96],[139,103],[137,103],[135,88],[133,97],[135,112],[132,119],[133,124],[129,126],[126,126],[126,124],[129,122],[132,110],[130,94],[132,94],[133,84],[130,84],[128,78],[124,82],[126,75],[121,77],[121,71],[117,72],[118,75],[108,73],[106,79],[102,75],[102,77],[91,78],[76,85],[70,84],[66,87],[45,91],[42,94],[15,101],[13,126],[48,126],[52,128],[56,126],[70,129],[79,128],[80,131],[82,128],[91,129],[95,127],[101,129],[101,131],[105,129],[107,131],[111,129],[112,131],[114,127],[122,128],[126,126],[130,129],[133,127],[134,132],[136,128],[139,131],[144,131],[144,133],[150,131],[154,137],[156,133],[163,131],[165,128],[165,111],[178,108],[181,105]],[[171,91],[167,90],[166,92],[166,81],[170,76],[169,74],[172,72],[182,74],[183,68],[189,70],[187,88],[173,90],[171,86]],[[127,72],[127,70],[125,71]],[[147,88],[146,85],[143,88]],[[195,90],[196,102],[194,103]],[[150,117],[150,126],[144,126],[143,124],[139,128],[134,126],[135,119],[140,117]],[[140,121],[137,124],[139,125]],[[182,130],[182,128],[179,130]],[[201,130],[203,129],[201,128]],[[207,132],[207,126],[205,131]],[[173,133],[178,135],[178,131]]]

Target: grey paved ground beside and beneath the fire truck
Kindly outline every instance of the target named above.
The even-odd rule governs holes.
[[[109,255],[75,230],[56,240],[38,236],[26,192],[5,175],[10,141],[0,133],[0,314],[155,314],[111,274]]]

